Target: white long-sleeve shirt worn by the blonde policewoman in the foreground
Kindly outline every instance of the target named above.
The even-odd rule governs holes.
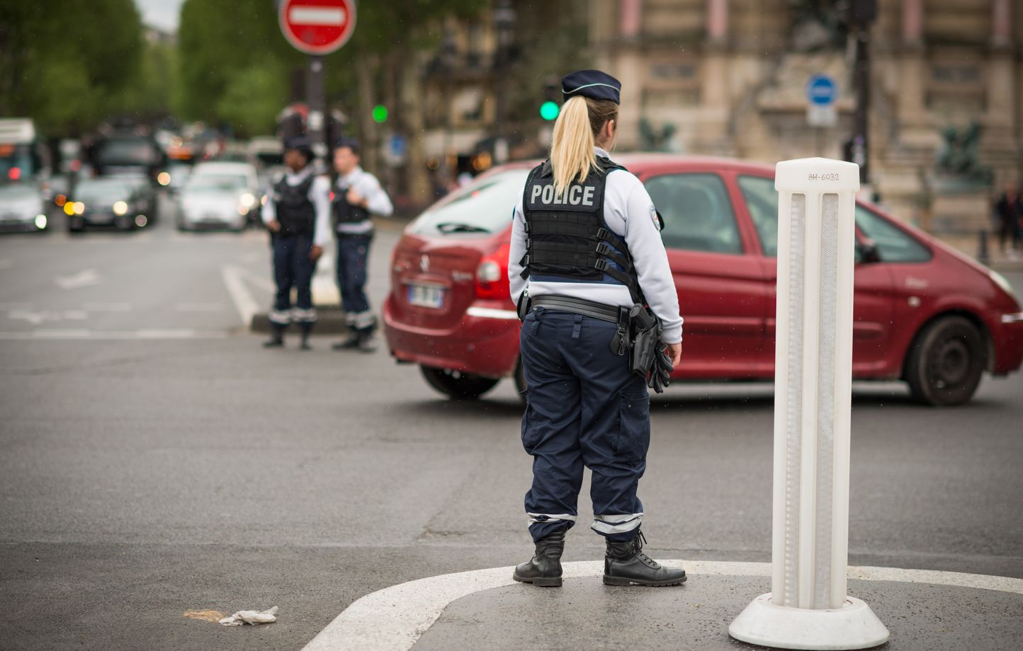
[[[599,147],[595,151],[598,156],[608,156],[608,152]],[[628,244],[639,287],[651,310],[661,320],[662,338],[667,343],[681,341],[682,317],[678,314],[678,294],[668,266],[668,253],[661,240],[654,201],[642,182],[631,173],[624,170],[608,173],[604,187],[604,221],[612,232],[624,238]],[[514,301],[518,303],[522,292],[528,289],[530,296],[560,294],[609,306],[632,305],[628,287],[620,284],[523,279],[520,276],[522,265],[519,263],[526,254],[524,225],[525,215],[520,193],[513,217],[511,249],[508,252],[508,284]]]

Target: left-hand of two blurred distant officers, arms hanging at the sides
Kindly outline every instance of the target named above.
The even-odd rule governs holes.
[[[313,173],[312,148],[306,136],[284,139],[285,174],[273,184],[270,200],[263,207],[263,222],[273,247],[273,277],[277,295],[270,311],[267,347],[284,344],[284,330],[297,323],[302,329],[304,351],[316,323],[312,301],[312,278],[316,261],[330,239],[330,182]],[[292,287],[297,305],[292,306]]]

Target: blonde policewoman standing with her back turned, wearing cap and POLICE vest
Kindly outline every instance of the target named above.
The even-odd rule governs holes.
[[[646,301],[677,364],[682,320],[650,195],[608,157],[620,91],[618,80],[599,71],[562,80],[566,101],[550,157],[530,173],[514,216],[508,276],[520,314],[528,309],[522,437],[533,457],[526,511],[536,544],[514,577],[536,586],[562,585],[565,532],[575,523],[584,466],[592,471],[592,529],[607,541],[604,583],[685,580],[684,570],[641,551],[636,485],[650,446],[650,398],[618,333],[627,310]]]

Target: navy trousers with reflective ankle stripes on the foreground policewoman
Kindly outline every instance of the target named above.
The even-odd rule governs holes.
[[[650,447],[650,398],[628,358],[611,352],[616,324],[536,308],[520,335],[529,385],[522,441],[533,456],[526,494],[534,541],[571,527],[577,516],[583,469],[592,471],[593,529],[631,540],[642,503],[636,497]],[[551,515],[555,514],[555,515]],[[627,514],[627,515],[621,515]]]

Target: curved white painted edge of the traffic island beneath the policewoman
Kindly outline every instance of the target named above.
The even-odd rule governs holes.
[[[691,576],[771,575],[770,563],[674,560],[662,564],[685,567]],[[494,567],[443,574],[376,591],[353,602],[313,638],[303,651],[406,651],[437,621],[451,602],[477,592],[515,584],[511,579],[514,569]],[[564,563],[563,569],[565,578],[601,576],[604,574],[604,562]],[[897,567],[849,567],[849,577],[996,590],[1023,595],[1023,578],[1008,576]],[[750,595],[750,599],[756,595]]]

